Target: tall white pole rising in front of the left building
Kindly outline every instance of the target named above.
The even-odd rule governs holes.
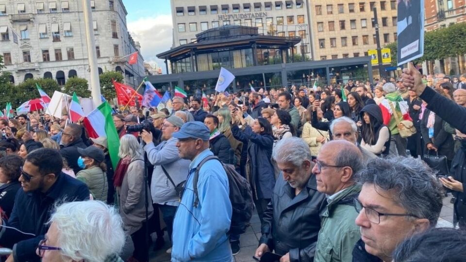
[[[87,55],[91,75],[91,94],[94,106],[98,107],[102,101],[100,99],[99,67],[97,65],[96,43],[94,40],[94,25],[92,22],[91,1],[83,1],[84,24],[86,29]]]

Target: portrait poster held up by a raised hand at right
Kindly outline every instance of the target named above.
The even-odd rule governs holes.
[[[398,0],[398,66],[424,55],[424,0]]]

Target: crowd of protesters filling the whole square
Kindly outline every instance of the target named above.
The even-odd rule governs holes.
[[[107,139],[89,138],[83,119],[0,119],[6,261],[146,262],[166,240],[173,262],[233,261],[240,235],[230,231],[222,164],[249,182],[262,233],[249,255],[258,261],[269,252],[280,262],[464,260],[466,75],[450,81],[410,65],[398,80],[172,105],[115,110],[115,169]],[[140,123],[150,128],[127,131]],[[459,229],[434,229],[447,196]]]

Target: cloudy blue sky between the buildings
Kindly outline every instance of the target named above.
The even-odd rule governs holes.
[[[166,73],[164,61],[156,55],[170,49],[173,43],[170,0],[123,0],[123,3],[128,11],[128,31],[141,44],[144,61],[157,63]]]

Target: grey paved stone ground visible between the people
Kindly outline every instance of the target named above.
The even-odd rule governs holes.
[[[437,227],[453,227],[453,204],[450,204],[451,195],[443,199],[443,208],[440,213]],[[254,213],[251,219],[251,227],[248,228],[246,233],[240,237],[241,251],[234,257],[235,262],[255,262],[252,259],[254,252],[256,251],[261,237],[261,222],[259,216]],[[154,238],[155,241],[155,238]],[[161,250],[153,252],[150,251],[150,262],[169,262],[170,255],[166,254],[166,249],[170,247],[169,241],[167,241],[167,234],[165,234],[166,245]]]

